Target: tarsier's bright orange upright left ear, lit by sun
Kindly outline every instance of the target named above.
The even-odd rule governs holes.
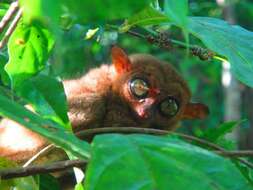
[[[125,73],[131,70],[131,62],[128,55],[123,49],[117,46],[113,46],[111,50],[112,64],[118,74]]]

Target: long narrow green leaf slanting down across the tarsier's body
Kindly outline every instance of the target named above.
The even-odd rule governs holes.
[[[1,91],[0,105],[1,116],[26,126],[78,158],[88,159],[90,157],[90,145],[87,142],[78,139],[71,131],[64,130],[61,125],[43,119],[39,115],[11,101],[2,95]]]

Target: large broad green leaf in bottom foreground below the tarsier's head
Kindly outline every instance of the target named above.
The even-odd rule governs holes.
[[[249,190],[228,159],[173,137],[101,135],[92,143],[87,190]]]

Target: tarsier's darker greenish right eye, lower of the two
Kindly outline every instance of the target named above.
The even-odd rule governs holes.
[[[160,103],[159,109],[162,115],[166,117],[173,117],[179,110],[179,104],[175,98],[167,97]]]

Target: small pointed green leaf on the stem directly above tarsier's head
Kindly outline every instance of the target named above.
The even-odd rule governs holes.
[[[120,32],[126,32],[133,26],[148,26],[158,24],[160,22],[169,22],[168,17],[163,15],[160,11],[146,7],[144,10],[128,18],[124,24],[119,28]]]

